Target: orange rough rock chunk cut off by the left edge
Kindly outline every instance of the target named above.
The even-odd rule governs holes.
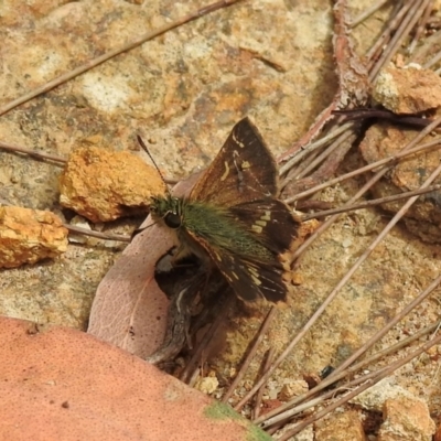
[[[51,212],[0,207],[0,268],[53,258],[67,249],[67,229]]]

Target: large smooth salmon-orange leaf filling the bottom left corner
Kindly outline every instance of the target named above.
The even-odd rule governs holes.
[[[270,440],[125,351],[72,329],[29,330],[29,322],[0,319],[0,439]]]

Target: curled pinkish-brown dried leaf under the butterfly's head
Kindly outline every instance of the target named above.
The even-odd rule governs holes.
[[[196,178],[178,184],[173,193],[185,194]],[[142,227],[148,225],[149,218]],[[175,245],[170,230],[157,225],[136,236],[100,282],[87,332],[142,358],[152,354],[164,338],[169,309],[154,268]]]

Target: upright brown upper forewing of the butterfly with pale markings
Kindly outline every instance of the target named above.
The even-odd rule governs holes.
[[[213,185],[215,182],[219,186]],[[190,198],[229,207],[271,197],[277,192],[276,161],[257,128],[244,118],[233,128]]]

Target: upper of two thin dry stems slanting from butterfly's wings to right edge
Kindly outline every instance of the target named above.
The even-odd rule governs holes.
[[[330,181],[326,181],[323,184],[314,186],[313,189],[305,190],[302,193],[298,193],[294,196],[286,198],[284,202],[287,204],[292,204],[295,201],[299,201],[299,200],[301,200],[303,197],[310,196],[310,195],[319,192],[320,190],[323,190],[323,189],[326,189],[329,186],[335,185],[335,184],[337,184],[337,183],[340,183],[342,181],[346,181],[349,178],[357,176],[358,174],[363,174],[365,172],[372,171],[374,169],[377,169],[377,168],[379,168],[381,165],[386,165],[388,163],[395,164],[401,158],[406,158],[406,157],[408,157],[410,154],[413,154],[413,153],[423,152],[426,150],[429,150],[429,149],[432,149],[433,147],[439,147],[439,146],[441,146],[441,139],[435,139],[435,140],[431,141],[431,142],[427,142],[424,144],[418,146],[415,149],[400,151],[399,153],[397,153],[397,154],[395,154],[392,157],[385,158],[385,159],[381,159],[379,161],[373,162],[372,164],[368,164],[368,165],[365,165],[365,166],[363,166],[361,169],[354,170],[351,173],[342,174],[341,176],[335,178],[335,179],[330,180]]]

